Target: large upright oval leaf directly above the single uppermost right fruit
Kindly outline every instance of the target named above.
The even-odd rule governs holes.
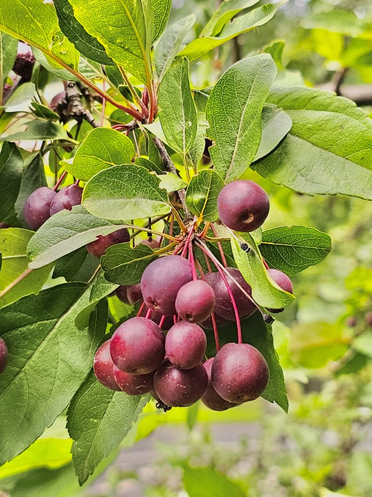
[[[261,139],[261,111],[275,75],[271,56],[260,54],[230,67],[211,91],[206,117],[214,145],[209,153],[226,182],[239,178],[254,159]]]

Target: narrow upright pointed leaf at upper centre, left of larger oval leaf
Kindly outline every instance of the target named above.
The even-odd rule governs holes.
[[[195,141],[197,116],[189,81],[189,62],[182,57],[164,75],[159,88],[159,119],[169,146],[186,156]]]

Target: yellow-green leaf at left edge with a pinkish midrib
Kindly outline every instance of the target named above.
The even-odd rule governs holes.
[[[0,292],[27,270],[26,248],[33,234],[32,231],[20,228],[0,230],[0,252],[2,253]],[[37,293],[48,278],[49,272],[49,266],[31,271],[1,297],[0,307],[29,293]]]

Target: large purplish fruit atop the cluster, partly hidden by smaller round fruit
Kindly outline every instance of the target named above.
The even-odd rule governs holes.
[[[147,307],[165,316],[173,316],[176,314],[178,291],[191,279],[191,265],[180,255],[167,255],[152,261],[141,278],[142,295]]]

